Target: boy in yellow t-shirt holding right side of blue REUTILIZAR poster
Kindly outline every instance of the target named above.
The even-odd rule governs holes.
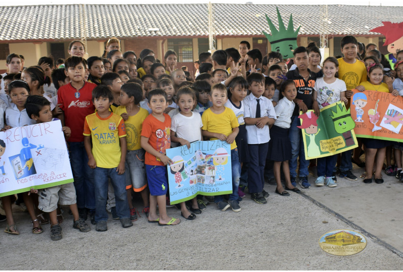
[[[238,186],[239,177],[241,176],[241,164],[239,163],[238,149],[235,142],[235,137],[239,132],[239,123],[234,111],[224,106],[227,99],[225,85],[218,83],[211,87],[210,101],[213,105],[202,115],[202,135],[210,138],[210,140],[218,139],[231,144],[232,194],[230,194],[228,203],[224,202],[222,195],[215,195],[214,202],[221,211],[231,207],[234,212],[239,212],[241,207],[238,201]]]

